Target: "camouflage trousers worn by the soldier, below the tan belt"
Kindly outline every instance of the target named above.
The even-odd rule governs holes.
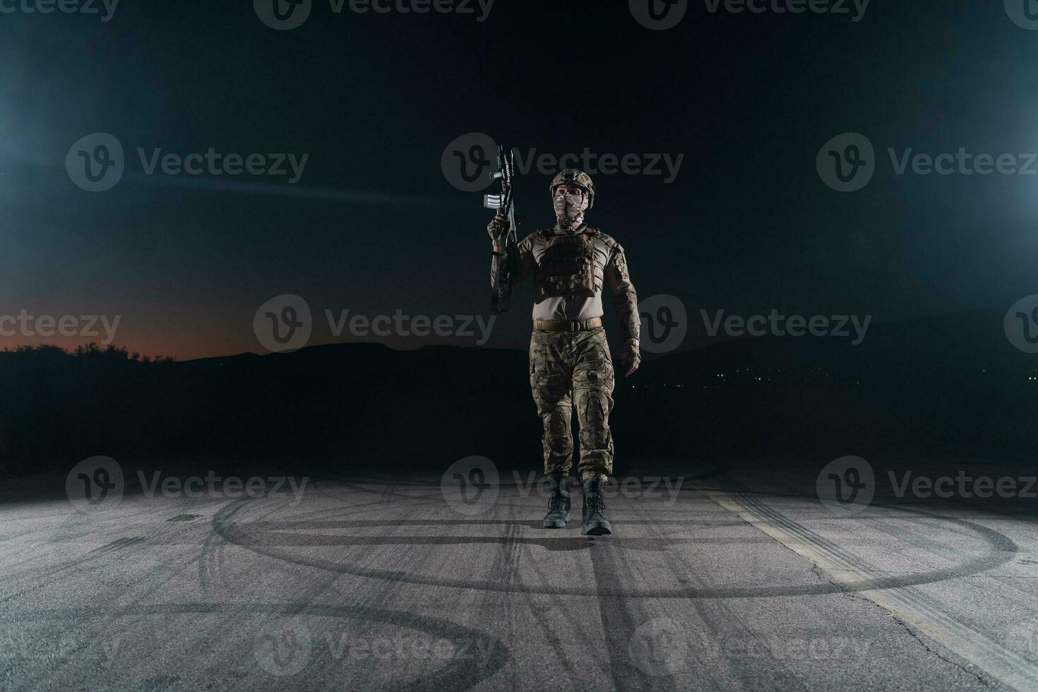
[[[529,384],[544,423],[544,472],[573,466],[573,409],[580,423],[583,473],[612,473],[612,358],[605,329],[580,332],[535,330],[529,343]]]

